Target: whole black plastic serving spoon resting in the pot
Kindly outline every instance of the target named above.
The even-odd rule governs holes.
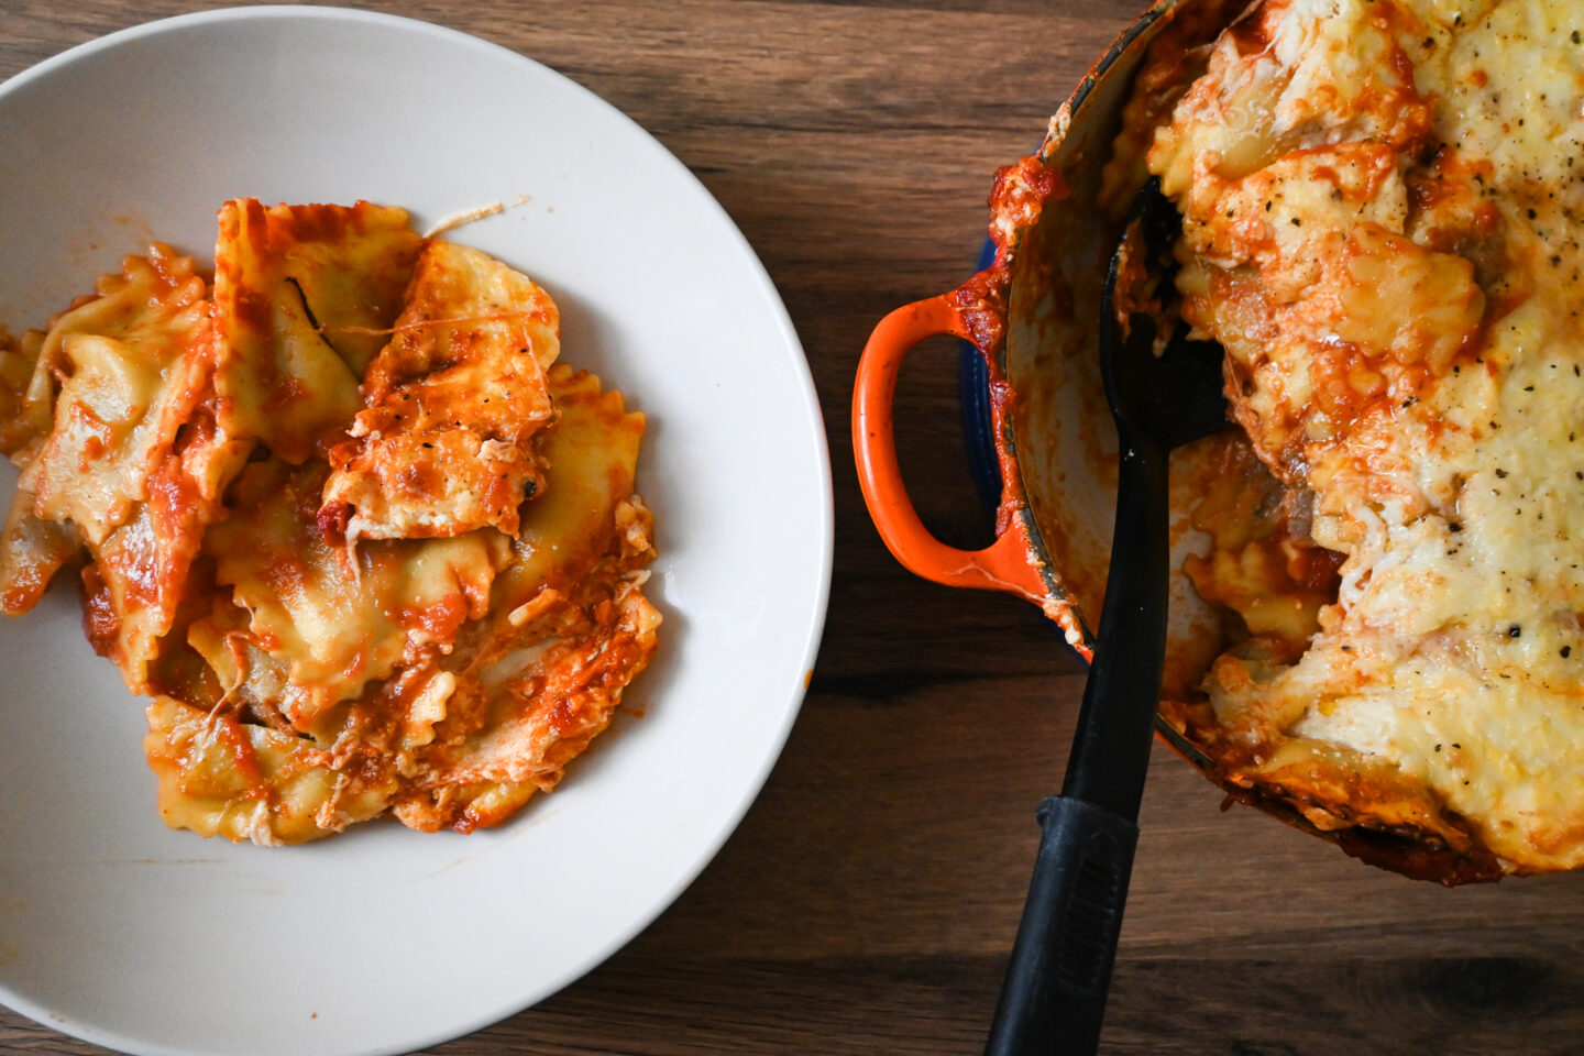
[[[1118,280],[1147,274],[1164,296],[1161,261],[1180,233],[1150,180],[1106,277],[1101,372],[1120,443],[1110,578],[1066,782],[1039,804],[1039,857],[987,1056],[1090,1056],[1099,1045],[1166,657],[1167,456],[1226,424],[1220,345],[1186,340],[1177,325],[1158,351],[1153,315],[1131,315],[1126,331],[1117,320]]]

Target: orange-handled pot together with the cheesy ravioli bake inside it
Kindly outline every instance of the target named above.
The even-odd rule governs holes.
[[[1578,14],[1161,0],[996,174],[992,266],[860,367],[855,421],[914,342],[974,340],[996,543],[900,516],[855,427],[870,508],[920,575],[1034,600],[1087,652],[1117,481],[1101,275],[1159,177],[1174,282],[1121,302],[1221,344],[1236,427],[1174,456],[1156,728],[1232,798],[1443,883],[1584,866]]]

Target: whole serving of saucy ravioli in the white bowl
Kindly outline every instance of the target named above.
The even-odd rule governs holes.
[[[531,279],[402,209],[220,209],[0,347],[0,608],[81,570],[158,809],[298,844],[553,788],[656,649],[643,415]]]

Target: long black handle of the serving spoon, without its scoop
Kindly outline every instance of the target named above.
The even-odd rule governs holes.
[[[1095,662],[1061,795],[1039,804],[1039,857],[985,1056],[1099,1047],[1164,668],[1166,459],[1125,435]]]

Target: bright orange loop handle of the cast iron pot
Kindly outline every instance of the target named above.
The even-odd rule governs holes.
[[[1045,584],[1017,530],[1004,530],[985,549],[947,546],[919,519],[903,486],[892,432],[897,377],[914,345],[939,334],[973,340],[963,313],[944,294],[897,309],[881,320],[863,348],[852,393],[852,453],[863,502],[885,546],[914,575],[955,587],[1009,591],[1038,602]]]

